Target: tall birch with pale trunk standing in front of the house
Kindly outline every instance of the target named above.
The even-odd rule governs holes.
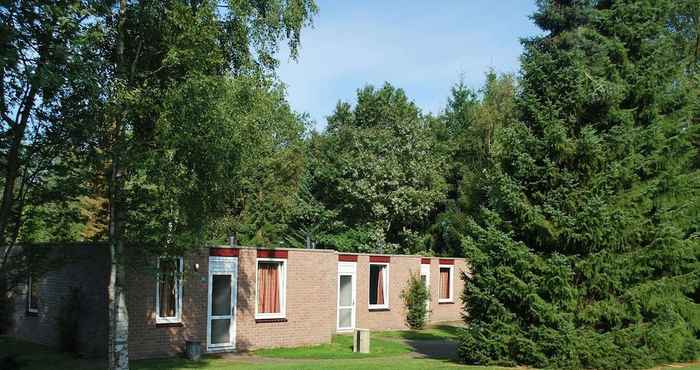
[[[109,210],[109,366],[125,369],[124,266],[136,252],[127,247],[138,241],[147,254],[172,255],[207,240],[225,212],[217,197],[240,165],[231,119],[242,117],[220,119],[248,103],[230,100],[227,76],[270,78],[279,43],[296,55],[317,8],[311,0],[120,0],[104,9],[91,14],[90,61],[99,68],[77,78],[81,89],[65,98],[89,103],[64,105],[62,114],[76,122],[86,166],[107,185],[97,198]]]

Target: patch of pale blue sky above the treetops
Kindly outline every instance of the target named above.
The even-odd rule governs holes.
[[[520,38],[539,29],[534,0],[317,0],[313,28],[302,32],[298,61],[283,51],[279,77],[292,108],[326,125],[338,100],[385,81],[424,112],[444,108],[463,78],[479,88],[489,68],[517,72]]]

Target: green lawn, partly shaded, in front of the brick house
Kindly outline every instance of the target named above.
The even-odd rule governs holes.
[[[240,356],[205,356],[200,361],[188,361],[182,358],[132,361],[131,368],[135,370],[226,370],[226,369],[474,369],[488,370],[494,367],[462,366],[447,360],[412,358],[407,354],[408,349],[396,338],[454,338],[451,329],[436,327],[421,332],[377,332],[372,335],[372,349],[377,353],[369,355],[353,354],[351,338],[337,336],[333,343],[291,349],[260,350],[253,355]],[[392,340],[393,338],[393,340]],[[418,339],[420,340],[420,339]],[[382,352],[379,352],[379,351]],[[8,337],[0,337],[0,359],[14,355],[21,370],[97,370],[104,369],[104,361],[81,360],[72,356],[57,353],[37,344],[18,341]],[[3,367],[5,366],[5,367]],[[9,369],[0,363],[0,369]],[[504,368],[500,368],[504,369]],[[507,369],[507,368],[506,368]],[[656,369],[700,370],[700,363],[680,364],[673,367],[658,367]],[[11,369],[14,370],[14,369]]]

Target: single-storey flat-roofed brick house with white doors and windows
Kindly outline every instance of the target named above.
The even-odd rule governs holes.
[[[78,348],[107,353],[109,254],[104,246],[59,248],[62,267],[28,278],[15,297],[13,334],[57,346],[69,292],[79,292]],[[139,260],[141,261],[141,260]],[[430,323],[462,318],[463,258],[340,253],[323,249],[212,247],[187,256],[130,263],[131,358],[330,342],[355,328],[406,329],[401,293],[410,274],[430,291]]]

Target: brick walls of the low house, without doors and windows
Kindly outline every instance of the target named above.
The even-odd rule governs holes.
[[[70,263],[39,281],[38,315],[26,314],[25,296],[15,301],[14,335],[37,343],[57,345],[58,307],[71,287],[81,290],[84,309],[80,326],[81,352],[106,356],[107,281],[109,250],[104,246],[57,249],[72,256]],[[286,250],[286,317],[279,322],[255,319],[255,273],[258,250],[238,250],[236,348],[293,347],[327,343],[336,331],[338,253],[330,250]],[[182,352],[186,339],[206,345],[209,249],[183,259],[182,322],[158,325],[155,318],[155,261],[132,258],[127,271],[129,352],[132,359],[164,357]],[[356,327],[371,330],[405,329],[406,309],[401,299],[409,274],[419,274],[418,256],[389,256],[389,308],[369,309],[370,256],[357,255]],[[461,319],[461,294],[467,272],[464,259],[454,261],[454,303],[438,303],[439,258],[430,258],[431,323]],[[198,268],[195,269],[195,265]]]

